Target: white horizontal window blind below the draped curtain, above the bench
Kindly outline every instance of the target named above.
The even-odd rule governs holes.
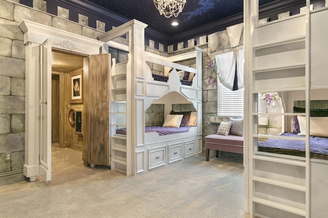
[[[217,86],[217,110],[220,117],[243,117],[244,88],[231,91],[220,82]]]

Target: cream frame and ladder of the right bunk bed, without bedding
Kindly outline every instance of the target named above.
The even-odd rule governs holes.
[[[325,100],[328,94],[328,8],[306,12],[267,24],[258,24],[258,0],[244,2],[245,11],[245,211],[251,217],[325,217],[328,214],[328,161],[310,158],[309,109],[305,136],[306,157],[264,154],[257,151],[258,138],[280,136],[258,133],[257,94],[283,92],[285,113],[266,116],[291,117],[292,102]],[[289,125],[289,123],[285,123]],[[285,126],[290,129],[290,126]],[[290,139],[292,140],[292,139]]]

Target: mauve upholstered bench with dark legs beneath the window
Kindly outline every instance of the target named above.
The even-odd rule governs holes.
[[[209,161],[210,149],[215,150],[216,157],[220,151],[243,154],[243,137],[235,135],[209,135],[205,137],[206,161]]]

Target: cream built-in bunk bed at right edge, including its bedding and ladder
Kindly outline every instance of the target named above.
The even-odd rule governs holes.
[[[251,217],[325,217],[328,213],[327,116],[313,113],[326,113],[327,104],[314,101],[328,99],[324,79],[328,7],[322,7],[324,1],[313,1],[318,2],[321,8],[314,5],[310,10],[312,3],[304,1],[299,14],[268,23],[263,22],[267,18],[259,18],[258,0],[244,4],[245,93],[250,99],[244,118],[244,140],[249,146],[244,154],[248,169],[244,199]],[[262,93],[276,93],[281,110],[259,111]],[[304,103],[295,103],[299,101]],[[264,124],[263,118],[269,122]],[[278,120],[281,127],[263,127],[275,126]],[[299,135],[304,136],[293,134],[293,120],[294,127],[299,121]],[[279,135],[278,130],[287,133]],[[281,141],[284,144],[278,145]]]

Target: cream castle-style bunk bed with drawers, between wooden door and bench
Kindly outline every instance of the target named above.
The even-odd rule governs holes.
[[[147,172],[202,151],[202,50],[195,48],[194,51],[170,57],[147,52],[144,44],[146,27],[137,20],[131,20],[98,37],[106,42],[109,50],[115,48],[127,52],[125,61],[112,59],[110,73],[111,169],[122,171],[127,176]],[[186,60],[193,60],[193,67],[180,64]],[[155,64],[163,71],[152,72],[150,67]],[[179,76],[182,72],[183,76],[186,74],[185,79]],[[166,81],[158,79],[160,74]],[[154,104],[163,105],[163,124],[146,126],[145,112]],[[192,110],[181,110],[185,105]]]

